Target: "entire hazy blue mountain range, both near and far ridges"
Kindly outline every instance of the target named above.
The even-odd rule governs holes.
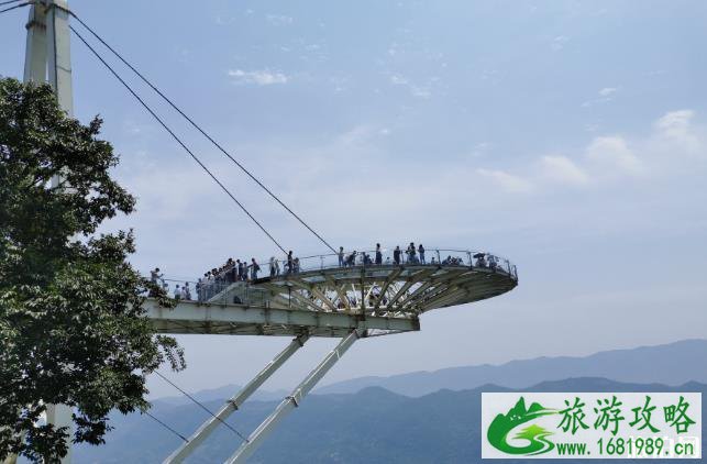
[[[250,462],[479,462],[482,391],[705,393],[706,355],[707,341],[689,340],[586,357],[543,357],[336,383],[307,397]],[[216,411],[235,390],[237,386],[230,385],[194,396]],[[228,421],[243,435],[273,411],[285,393],[259,395]],[[155,400],[150,412],[184,437],[209,418],[199,406],[179,398]],[[104,445],[75,448],[76,463],[158,463],[181,441],[144,415],[115,413],[111,424],[114,430]],[[223,462],[241,442],[233,430],[220,427],[187,462]],[[538,462],[544,461],[533,461]]]

